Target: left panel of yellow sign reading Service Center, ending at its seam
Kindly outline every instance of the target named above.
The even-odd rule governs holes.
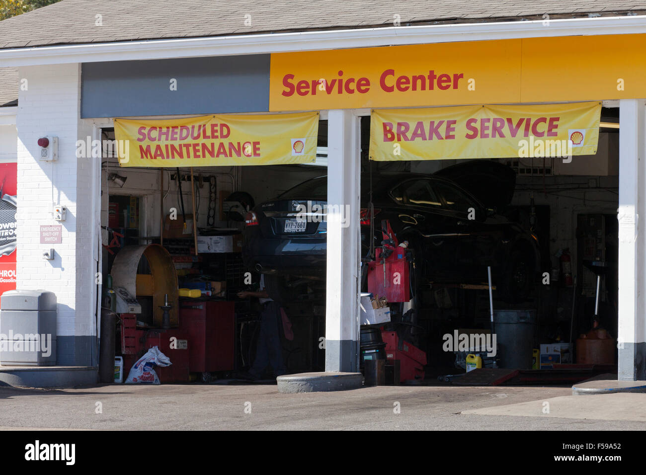
[[[521,42],[494,40],[271,55],[269,110],[521,100]]]

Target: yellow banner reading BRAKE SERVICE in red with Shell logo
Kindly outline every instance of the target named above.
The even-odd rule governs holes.
[[[601,103],[373,110],[370,158],[528,158],[592,155]]]

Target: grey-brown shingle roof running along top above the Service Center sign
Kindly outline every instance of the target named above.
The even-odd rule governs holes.
[[[63,0],[0,21],[0,48],[446,21],[625,15],[646,0]],[[102,26],[98,26],[100,16]],[[247,17],[250,16],[250,17]],[[251,20],[251,26],[245,25]]]

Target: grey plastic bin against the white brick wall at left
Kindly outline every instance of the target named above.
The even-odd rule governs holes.
[[[0,304],[0,364],[56,364],[56,295],[45,290],[9,290]]]

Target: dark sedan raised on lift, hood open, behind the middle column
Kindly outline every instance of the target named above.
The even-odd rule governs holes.
[[[510,202],[515,177],[509,167],[490,161],[453,165],[432,175],[362,175],[362,258],[370,259],[371,239],[380,245],[380,222],[389,220],[399,241],[408,240],[415,252],[419,283],[482,283],[492,266],[501,298],[527,299],[540,269],[536,235],[496,212],[496,206]],[[327,191],[328,178],[320,176],[247,213],[243,259],[266,275],[275,300],[294,299],[298,283],[325,277]],[[485,206],[474,195],[495,205]]]

